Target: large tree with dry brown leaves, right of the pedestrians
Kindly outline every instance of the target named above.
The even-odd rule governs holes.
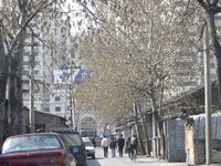
[[[93,102],[103,104],[105,111],[109,111],[113,103],[120,107],[123,103],[118,100],[126,102],[127,106],[128,101],[130,106],[143,98],[149,101],[152,107],[154,156],[164,155],[157,152],[155,142],[157,137],[162,138],[161,113],[158,110],[161,96],[165,96],[161,89],[169,91],[177,84],[177,66],[182,59],[179,50],[197,43],[190,39],[194,34],[189,33],[188,23],[188,13],[196,9],[188,2],[168,4],[165,1],[141,0],[96,2],[93,3],[94,10],[85,3],[82,6],[88,18],[94,20],[94,28],[80,42],[85,65],[95,72],[96,81],[91,85],[96,89],[91,89],[91,95],[97,95]],[[196,66],[190,60],[182,76]],[[143,116],[143,112],[139,114]],[[143,126],[146,131],[145,124]],[[146,137],[148,141],[147,134]],[[146,152],[149,154],[149,148]]]

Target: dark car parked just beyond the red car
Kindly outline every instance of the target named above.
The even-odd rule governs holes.
[[[54,129],[52,132],[61,134],[63,139],[76,159],[77,166],[87,166],[86,149],[78,132],[73,129]]]

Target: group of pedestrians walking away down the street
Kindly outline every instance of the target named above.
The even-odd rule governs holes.
[[[119,138],[116,139],[114,136],[110,137],[110,141],[107,136],[104,136],[102,139],[102,147],[104,148],[104,157],[108,157],[108,148],[110,148],[112,157],[116,157],[116,149],[119,152],[119,157],[123,157],[124,147],[126,145],[126,152],[128,153],[129,158],[133,158],[134,153],[137,152],[137,137],[134,135],[131,138],[128,137],[125,144],[125,138],[123,135],[119,135]]]

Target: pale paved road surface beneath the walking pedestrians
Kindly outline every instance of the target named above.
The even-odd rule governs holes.
[[[109,152],[110,155],[110,152]],[[187,166],[185,163],[166,163],[154,158],[137,158],[136,163],[125,154],[124,158],[104,158],[102,148],[96,148],[96,159],[88,158],[88,166]]]

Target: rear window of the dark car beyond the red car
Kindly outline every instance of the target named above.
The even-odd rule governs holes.
[[[74,133],[62,133],[62,136],[64,137],[65,142],[69,146],[80,146],[82,145],[82,138],[78,134]]]

